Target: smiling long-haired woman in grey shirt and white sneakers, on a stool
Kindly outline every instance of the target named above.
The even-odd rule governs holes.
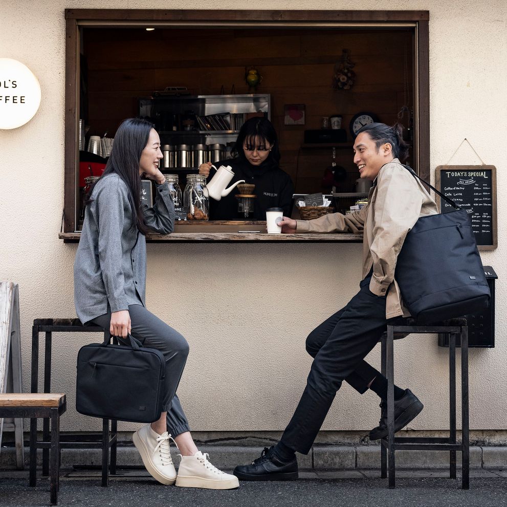
[[[159,170],[160,159],[160,139],[151,123],[129,119],[120,125],[104,173],[87,197],[74,263],[76,312],[81,322],[109,328],[120,339],[131,334],[165,357],[163,412],[133,436],[148,472],[163,484],[237,488],[234,476],[213,467],[208,455],[195,447],[175,394],[188,355],[185,338],[145,307],[145,234],[169,234],[174,224],[174,203]],[[141,204],[141,177],[156,183],[152,208]],[[169,439],[182,456],[178,476]]]

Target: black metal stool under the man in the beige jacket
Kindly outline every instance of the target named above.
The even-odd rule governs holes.
[[[446,438],[394,437],[394,339],[409,334],[443,333],[449,338],[449,423]],[[394,335],[398,336],[394,336]],[[461,444],[456,442],[456,336],[461,338]],[[394,488],[394,452],[401,449],[417,451],[450,451],[449,476],[456,478],[456,451],[461,451],[462,489],[469,489],[470,447],[468,426],[468,326],[467,319],[458,318],[433,325],[416,325],[408,319],[407,325],[388,325],[381,338],[382,374],[387,377],[387,437],[381,440],[381,477],[387,477],[389,451],[389,488]]]

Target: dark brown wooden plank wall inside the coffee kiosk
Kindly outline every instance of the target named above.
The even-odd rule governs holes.
[[[298,192],[320,191],[332,162],[329,148],[300,149],[304,129],[320,128],[323,116],[341,114],[348,132],[359,111],[392,124],[406,102],[413,104],[410,31],[95,28],[83,30],[83,48],[88,121],[96,135],[113,136],[124,118],[137,115],[138,97],[165,86],[206,95],[218,94],[222,86],[230,93],[234,85],[236,93],[249,93],[245,68],[254,65],[263,77],[257,91],[271,94],[282,167]],[[342,49],[350,51],[357,78],[351,90],[335,91],[333,68]],[[305,104],[305,125],[284,125],[284,104]],[[337,150],[337,163],[348,173],[340,190],[352,191],[358,177],[352,150]]]

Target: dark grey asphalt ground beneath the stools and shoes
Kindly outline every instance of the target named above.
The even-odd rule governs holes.
[[[40,473],[40,471],[39,471]],[[400,470],[396,488],[387,487],[378,470],[301,472],[290,482],[240,482],[239,489],[212,491],[162,486],[145,470],[121,469],[108,488],[100,486],[100,470],[62,470],[59,505],[95,507],[500,507],[507,499],[507,471],[472,470],[470,490],[443,470]],[[0,472],[0,505],[49,505],[49,480],[28,487],[28,472]]]

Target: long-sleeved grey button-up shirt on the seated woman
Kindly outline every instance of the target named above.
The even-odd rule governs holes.
[[[167,183],[156,185],[155,204],[143,204],[146,225],[154,232],[174,230],[174,203]],[[146,239],[133,227],[128,188],[117,174],[95,185],[86,206],[74,261],[74,304],[83,323],[110,312],[145,306]]]

